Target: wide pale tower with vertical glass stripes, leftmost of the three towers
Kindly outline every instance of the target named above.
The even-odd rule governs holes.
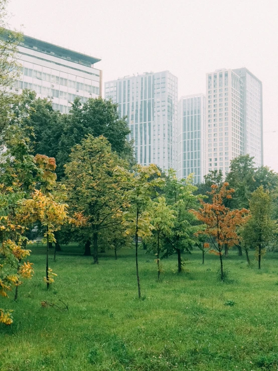
[[[105,98],[127,115],[135,160],[176,168],[178,79],[169,71],[145,72],[105,82]]]

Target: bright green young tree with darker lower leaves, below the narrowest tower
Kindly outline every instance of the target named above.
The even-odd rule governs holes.
[[[191,253],[196,243],[195,232],[199,229],[197,219],[191,212],[197,209],[199,198],[202,195],[195,195],[197,187],[192,184],[192,178],[179,181],[174,170],[169,170],[169,175],[165,186],[165,196],[167,204],[175,210],[176,218],[171,233],[164,235],[167,245],[166,255],[177,253],[178,272],[182,271],[181,254],[184,250]],[[164,233],[163,233],[164,234]]]

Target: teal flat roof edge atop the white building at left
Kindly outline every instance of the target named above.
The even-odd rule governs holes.
[[[45,53],[48,55],[56,56],[58,58],[70,60],[72,62],[83,64],[85,66],[91,67],[91,65],[101,61],[101,59],[99,58],[95,58],[90,55],[75,52],[73,50],[48,43],[46,41],[38,40],[38,39],[35,39],[27,35],[23,35],[23,39],[24,40],[20,43],[20,46],[24,48],[37,50],[41,53]]]

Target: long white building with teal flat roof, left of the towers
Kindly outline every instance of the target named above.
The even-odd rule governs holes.
[[[101,95],[102,71],[94,68],[98,58],[29,36],[24,36],[18,54],[22,74],[13,89],[19,93],[34,90],[62,113],[69,111],[75,97],[85,102]]]

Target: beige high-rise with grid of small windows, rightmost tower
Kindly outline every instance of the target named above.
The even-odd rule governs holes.
[[[226,175],[230,160],[247,153],[257,154],[256,165],[262,165],[261,84],[252,74],[249,81],[249,74],[246,69],[207,74],[207,171]]]

